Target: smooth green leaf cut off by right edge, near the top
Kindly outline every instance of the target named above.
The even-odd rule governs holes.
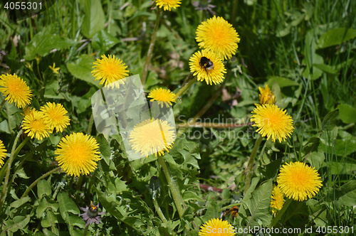
[[[356,30],[353,28],[334,28],[324,33],[318,41],[318,48],[328,48],[338,45],[356,37]]]

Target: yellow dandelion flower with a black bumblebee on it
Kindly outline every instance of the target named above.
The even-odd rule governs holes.
[[[190,72],[197,75],[198,81],[205,80],[208,85],[212,85],[212,82],[216,85],[224,80],[226,69],[221,58],[215,53],[201,50],[194,53],[189,60]]]

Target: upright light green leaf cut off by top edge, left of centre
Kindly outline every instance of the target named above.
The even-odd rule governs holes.
[[[86,38],[92,38],[95,33],[104,28],[105,24],[105,15],[101,1],[85,0],[84,11],[82,33]]]

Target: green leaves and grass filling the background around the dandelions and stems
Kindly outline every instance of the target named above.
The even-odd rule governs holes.
[[[223,85],[197,82],[174,104],[178,134],[184,138],[175,141],[164,159],[187,205],[182,218],[157,158],[129,162],[121,151],[120,136],[108,141],[95,129],[90,134],[98,140],[103,159],[93,175],[73,178],[53,173],[21,198],[27,186],[56,166],[54,150],[61,137],[87,132],[90,97],[100,88],[90,74],[95,58],[117,55],[132,75],[142,73],[156,18],[152,1],[56,1],[38,16],[17,23],[8,22],[0,5],[1,74],[23,78],[33,91],[36,109],[59,102],[70,115],[65,132],[31,140],[15,159],[0,212],[1,236],[83,235],[79,208],[90,200],[106,212],[103,223],[90,225],[91,235],[198,235],[202,223],[220,218],[224,207],[234,203],[241,203],[238,217],[227,214],[224,220],[236,227],[266,227],[272,220],[272,182],[281,163],[290,161],[314,166],[323,188],[315,198],[291,203],[276,227],[356,230],[356,1],[213,0],[211,4],[217,16],[234,25],[241,42],[226,63]],[[197,26],[210,17],[209,12],[194,9],[192,1],[164,11],[147,92],[156,87],[179,90],[189,75],[189,58],[198,50]],[[49,68],[53,63],[60,68],[59,75]],[[244,171],[256,129],[187,128],[181,123],[197,114],[201,122],[215,118],[247,123],[258,103],[258,86],[266,84],[278,106],[293,117],[295,130],[281,144],[263,139],[256,178],[244,198]],[[207,103],[211,106],[201,112]],[[1,110],[0,138],[8,151],[22,119],[14,104],[6,103]],[[194,136],[197,132],[206,135]],[[159,187],[150,186],[153,176]],[[221,193],[199,188],[199,183]],[[2,189],[4,181],[0,184]],[[153,193],[167,222],[157,216]]]

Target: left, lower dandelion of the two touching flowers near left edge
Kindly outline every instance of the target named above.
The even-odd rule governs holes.
[[[28,136],[31,136],[31,139],[35,136],[38,140],[48,137],[51,132],[43,112],[38,111],[30,112],[23,118],[22,128]]]

